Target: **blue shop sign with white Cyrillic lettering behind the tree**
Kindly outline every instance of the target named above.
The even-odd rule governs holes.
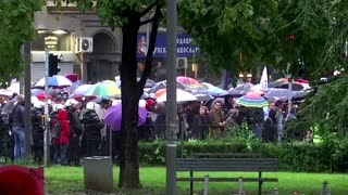
[[[148,41],[146,40],[146,34],[138,34],[137,57],[146,57],[148,50]],[[176,56],[177,57],[191,57],[199,48],[192,44],[192,38],[187,34],[178,34],[176,38]],[[158,34],[156,38],[153,57],[164,58],[166,56],[166,34]]]

